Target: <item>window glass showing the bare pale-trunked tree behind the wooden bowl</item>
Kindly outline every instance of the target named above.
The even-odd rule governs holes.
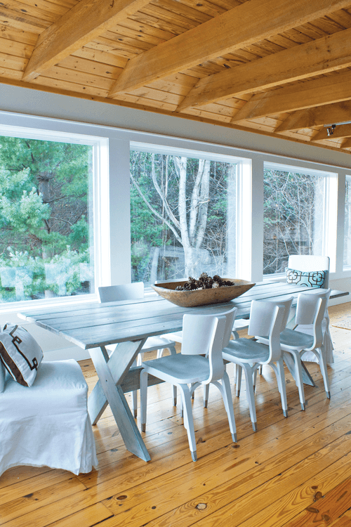
[[[132,151],[133,282],[234,277],[236,180],[235,164]]]

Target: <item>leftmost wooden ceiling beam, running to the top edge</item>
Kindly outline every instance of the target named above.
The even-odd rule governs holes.
[[[30,82],[102,32],[125,20],[150,0],[81,0],[39,35],[23,74]]]

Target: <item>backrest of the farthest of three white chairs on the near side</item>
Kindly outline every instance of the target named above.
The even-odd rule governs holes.
[[[314,342],[312,348],[319,348],[323,343],[322,322],[328,308],[331,289],[319,292],[314,290],[298,295],[295,323],[298,326],[312,325]]]

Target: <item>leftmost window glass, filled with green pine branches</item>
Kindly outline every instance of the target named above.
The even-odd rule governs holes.
[[[0,136],[0,302],[93,290],[93,147]]]

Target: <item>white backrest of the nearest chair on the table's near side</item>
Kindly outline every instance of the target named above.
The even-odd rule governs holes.
[[[210,363],[210,376],[206,382],[223,377],[222,350],[230,341],[237,308],[225,313],[183,316],[183,355],[206,355]]]

